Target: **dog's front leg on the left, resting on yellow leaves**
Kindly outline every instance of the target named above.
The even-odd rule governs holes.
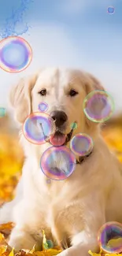
[[[30,250],[35,245],[41,250],[42,230],[46,230],[47,234],[50,232],[46,228],[43,212],[34,203],[23,200],[15,207],[13,217],[16,225],[9,237],[9,246],[18,251]]]

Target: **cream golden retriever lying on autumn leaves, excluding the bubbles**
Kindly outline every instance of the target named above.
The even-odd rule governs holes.
[[[17,195],[2,207],[0,221],[13,221],[9,245],[16,250],[31,249],[46,238],[62,247],[60,256],[87,256],[97,252],[98,230],[107,221],[122,222],[122,166],[109,151],[100,124],[87,119],[84,98],[94,90],[104,90],[87,72],[72,69],[41,69],[22,79],[10,93],[16,120],[20,125],[30,113],[39,111],[40,102],[56,125],[55,135],[66,135],[66,147],[78,133],[90,135],[94,147],[87,158],[77,158],[76,169],[65,180],[50,180],[40,168],[40,158],[51,146],[50,140],[35,145],[20,133],[25,161]],[[71,136],[71,124],[77,123]],[[70,138],[71,137],[71,138]],[[59,168],[58,159],[54,159]],[[63,162],[64,170],[68,168]],[[39,245],[38,245],[39,244]]]

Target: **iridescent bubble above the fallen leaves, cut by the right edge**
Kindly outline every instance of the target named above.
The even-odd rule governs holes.
[[[98,232],[98,243],[107,253],[122,252],[122,224],[116,221],[105,223]]]

